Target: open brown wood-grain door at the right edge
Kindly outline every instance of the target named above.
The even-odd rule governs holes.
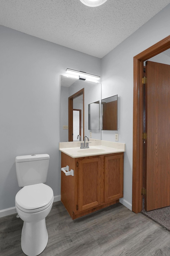
[[[170,205],[170,65],[146,62],[147,211]]]

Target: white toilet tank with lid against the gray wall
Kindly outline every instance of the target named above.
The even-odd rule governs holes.
[[[16,176],[19,187],[46,182],[49,158],[48,154],[16,157]]]

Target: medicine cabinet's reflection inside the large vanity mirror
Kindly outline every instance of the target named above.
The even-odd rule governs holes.
[[[88,104],[88,129],[100,129],[100,101]]]

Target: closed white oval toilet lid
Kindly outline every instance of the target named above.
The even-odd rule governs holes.
[[[39,183],[23,187],[16,194],[15,201],[23,209],[31,210],[48,205],[52,198],[52,188]]]

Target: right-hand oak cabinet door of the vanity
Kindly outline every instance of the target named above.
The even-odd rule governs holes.
[[[123,197],[123,154],[105,157],[105,202]]]

